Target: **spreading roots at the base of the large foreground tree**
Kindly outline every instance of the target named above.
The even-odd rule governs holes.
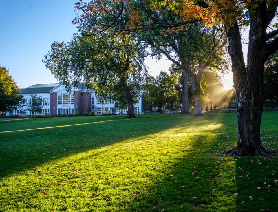
[[[221,155],[230,155],[230,156],[275,156],[277,155],[277,151],[266,150],[264,147],[256,149],[255,152],[248,152],[244,148],[234,147],[227,151],[221,153]]]

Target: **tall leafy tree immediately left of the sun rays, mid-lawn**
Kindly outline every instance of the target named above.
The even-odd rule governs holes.
[[[178,69],[182,70],[183,105],[188,108],[188,78],[190,79],[194,100],[194,116],[203,116],[204,70],[226,68],[224,47],[227,38],[220,27],[208,28],[202,23],[189,25],[183,30],[152,30],[140,34],[140,39],[152,47],[152,52],[164,54]],[[186,102],[185,102],[186,101]],[[187,113],[187,111],[186,111]]]

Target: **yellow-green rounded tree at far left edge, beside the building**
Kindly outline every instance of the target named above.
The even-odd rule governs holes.
[[[0,65],[0,114],[16,109],[23,95],[20,95],[17,83],[9,75],[9,70]]]

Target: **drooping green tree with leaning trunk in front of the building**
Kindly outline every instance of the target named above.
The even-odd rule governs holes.
[[[118,103],[124,94],[127,118],[135,118],[133,97],[140,92],[147,70],[144,55],[144,44],[130,34],[109,38],[76,35],[67,44],[54,42],[43,62],[67,87],[83,80],[87,88],[102,96],[114,95]]]

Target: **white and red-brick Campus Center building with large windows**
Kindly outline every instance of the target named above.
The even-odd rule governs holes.
[[[27,104],[31,99],[31,94],[37,94],[42,98],[43,110],[39,114],[45,115],[69,115],[76,112],[80,114],[84,112],[95,111],[97,115],[104,113],[110,114],[126,114],[126,109],[115,108],[115,101],[110,100],[100,102],[96,93],[87,90],[81,83],[77,88],[73,88],[71,92],[67,92],[65,86],[61,84],[36,84],[27,88],[20,89],[24,96],[20,106],[16,110],[8,111],[7,116],[12,115],[34,115],[28,111]],[[134,104],[135,114],[143,112],[143,96],[140,93],[137,103]]]

